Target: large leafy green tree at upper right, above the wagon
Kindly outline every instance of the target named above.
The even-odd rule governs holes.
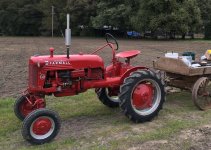
[[[143,0],[131,22],[139,31],[162,31],[174,38],[175,33],[196,31],[201,19],[195,0]]]

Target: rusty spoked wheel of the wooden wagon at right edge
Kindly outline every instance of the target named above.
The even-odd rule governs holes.
[[[207,77],[199,78],[193,86],[192,100],[197,108],[211,108],[211,82]]]

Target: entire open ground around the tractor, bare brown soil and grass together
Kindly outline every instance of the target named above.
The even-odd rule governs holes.
[[[71,53],[89,53],[105,43],[104,39],[73,38]],[[152,61],[166,51],[193,51],[199,58],[211,48],[210,41],[119,40],[120,50],[139,49],[142,54],[132,64],[152,66]],[[163,109],[151,122],[134,124],[119,108],[107,108],[93,90],[73,96],[47,97],[47,108],[62,118],[59,135],[51,143],[33,146],[21,136],[22,122],[13,113],[13,104],[27,86],[27,61],[34,54],[64,54],[62,38],[0,37],[0,150],[30,149],[211,149],[211,110],[199,111],[188,92],[167,95]],[[111,51],[100,55],[110,63]]]

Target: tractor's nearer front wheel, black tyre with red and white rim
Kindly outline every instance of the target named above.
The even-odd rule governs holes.
[[[44,144],[56,137],[60,127],[59,115],[52,110],[41,108],[24,119],[22,135],[31,144]]]

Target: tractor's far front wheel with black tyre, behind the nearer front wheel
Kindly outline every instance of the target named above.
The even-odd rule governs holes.
[[[23,121],[29,113],[39,108],[45,108],[45,106],[46,103],[44,98],[27,94],[22,95],[15,101],[14,112],[16,117]]]

